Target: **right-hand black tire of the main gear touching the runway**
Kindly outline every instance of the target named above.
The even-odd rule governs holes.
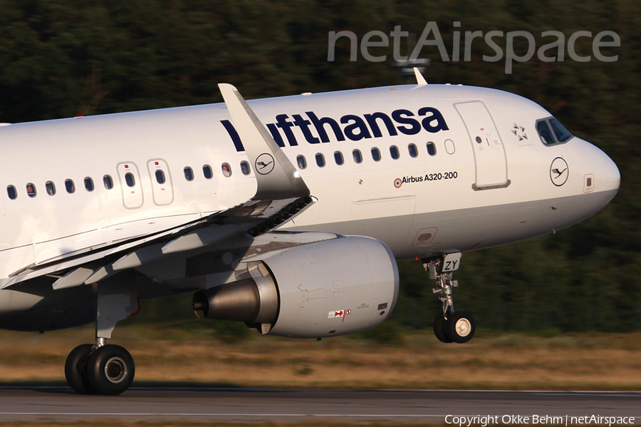
[[[129,351],[107,344],[98,347],[87,361],[87,378],[98,393],[115,396],[129,389],[136,371]]]

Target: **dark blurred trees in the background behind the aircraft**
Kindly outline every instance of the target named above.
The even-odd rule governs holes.
[[[458,309],[500,330],[630,331],[641,327],[640,143],[641,4],[636,0],[0,0],[0,122],[21,122],[222,101],[217,84],[246,98],[405,83],[392,46],[370,48],[387,60],[350,61],[349,43],[328,32],[385,34],[395,26],[419,36],[438,24],[449,55],[454,31],[615,31],[621,46],[593,56],[593,38],[555,62],[535,56],[486,62],[478,38],[471,61],[442,61],[434,46],[431,83],[498,88],[530,98],[575,135],[605,150],[622,175],[603,212],[568,230],[507,247],[464,254]],[[460,28],[454,22],[461,23]],[[405,40],[402,54],[405,54]],[[505,48],[505,38],[495,38]],[[391,38],[390,38],[391,45]],[[461,49],[463,45],[461,45]],[[523,54],[526,48],[517,44]],[[462,55],[462,53],[461,53]],[[553,55],[553,51],[548,51]],[[637,172],[635,172],[635,170]],[[402,295],[393,319],[431,327],[439,311],[419,262],[401,262]],[[178,305],[179,304],[179,305]],[[191,316],[187,299],[147,302],[145,319]]]

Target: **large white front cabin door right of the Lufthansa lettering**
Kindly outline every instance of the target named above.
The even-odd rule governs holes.
[[[494,120],[481,101],[454,104],[467,128],[476,165],[475,187],[504,187],[508,181],[505,148]]]

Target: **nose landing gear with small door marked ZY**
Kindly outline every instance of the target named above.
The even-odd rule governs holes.
[[[437,258],[423,258],[421,262],[429,278],[436,279],[439,287],[433,289],[443,304],[443,312],[434,319],[434,335],[442,342],[464,343],[472,339],[476,331],[476,323],[471,314],[454,312],[452,288],[458,287],[459,282],[452,280],[452,274],[459,269],[462,254],[445,254]]]

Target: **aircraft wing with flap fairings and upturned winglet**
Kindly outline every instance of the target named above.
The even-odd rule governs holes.
[[[257,183],[254,197],[169,230],[55,262],[31,265],[4,279],[0,289],[45,275],[51,277],[54,289],[96,283],[172,254],[198,251],[237,236],[263,235],[311,205],[313,197],[307,185],[239,91],[226,83],[219,84],[219,88],[249,161],[254,165]]]

